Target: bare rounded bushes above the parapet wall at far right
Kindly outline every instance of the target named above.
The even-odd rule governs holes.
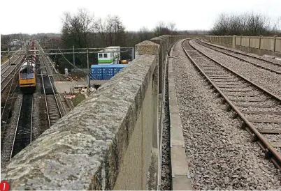
[[[226,14],[221,13],[211,29],[216,36],[274,36],[281,35],[281,15],[277,21],[259,13]]]

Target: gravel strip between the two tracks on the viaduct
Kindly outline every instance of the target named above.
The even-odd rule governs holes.
[[[224,66],[231,68],[244,77],[247,77],[247,79],[250,79],[252,82],[281,97],[281,75],[257,68],[252,66],[250,63],[239,61],[220,52],[215,52],[215,50],[203,47],[194,41],[192,41],[191,44],[204,52],[206,55],[211,56],[213,59],[221,63],[224,63]]]

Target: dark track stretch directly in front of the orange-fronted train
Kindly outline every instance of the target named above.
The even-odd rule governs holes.
[[[32,141],[32,110],[33,94],[24,94],[17,118],[17,127],[15,129],[10,159]]]

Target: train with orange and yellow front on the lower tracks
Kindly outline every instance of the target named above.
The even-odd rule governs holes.
[[[36,43],[32,39],[28,43],[29,54],[25,56],[19,70],[20,90],[23,93],[33,93],[36,89]]]

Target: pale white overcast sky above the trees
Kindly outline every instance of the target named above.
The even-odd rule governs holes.
[[[64,12],[87,8],[94,16],[119,15],[127,30],[152,29],[159,21],[176,28],[210,29],[219,13],[262,13],[276,20],[281,0],[14,0],[1,1],[1,34],[59,33]]]

